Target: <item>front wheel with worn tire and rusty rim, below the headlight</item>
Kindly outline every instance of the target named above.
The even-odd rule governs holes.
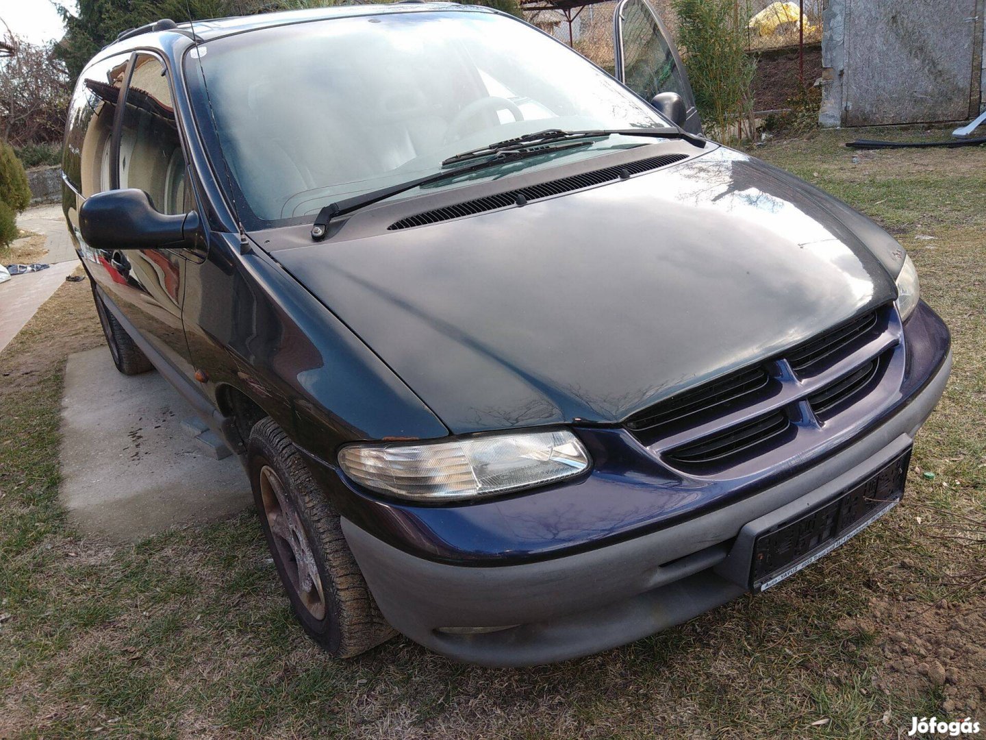
[[[346,545],[338,513],[269,416],[250,430],[246,455],[260,526],[305,631],[339,658],[393,636]]]

